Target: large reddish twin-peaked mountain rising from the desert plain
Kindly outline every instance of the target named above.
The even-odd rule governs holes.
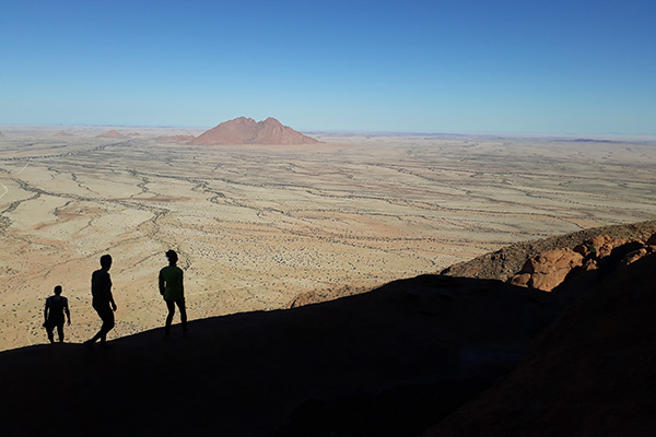
[[[255,121],[238,117],[201,133],[190,144],[314,144],[318,141],[304,135],[274,118]]]

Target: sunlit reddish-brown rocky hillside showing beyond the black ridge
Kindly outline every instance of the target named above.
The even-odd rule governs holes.
[[[620,263],[633,262],[654,252],[655,234],[656,221],[596,227],[511,245],[454,264],[440,274],[508,281],[547,292],[569,288],[565,294],[573,299],[578,296],[577,290],[583,288],[582,276],[599,276],[599,281]],[[570,286],[570,283],[573,285]],[[295,296],[288,307],[318,304],[365,291],[367,288],[344,286],[306,292]]]

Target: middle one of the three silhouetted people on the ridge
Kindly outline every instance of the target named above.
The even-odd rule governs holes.
[[[101,270],[96,270],[91,275],[91,294],[93,296],[92,305],[93,309],[96,310],[103,326],[101,330],[90,340],[86,344],[93,346],[93,344],[99,339],[101,347],[108,347],[106,344],[107,332],[114,328],[114,311],[116,311],[116,303],[114,303],[114,296],[112,296],[112,277],[109,276],[109,269],[112,268],[112,257],[109,255],[103,255],[101,257]]]

